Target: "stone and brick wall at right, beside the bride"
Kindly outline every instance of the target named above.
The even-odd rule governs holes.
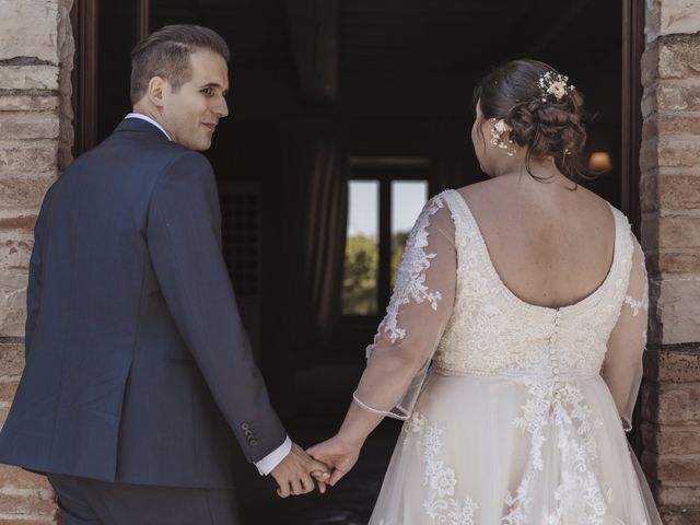
[[[642,465],[667,524],[700,524],[700,2],[648,0],[640,195],[650,269]]]

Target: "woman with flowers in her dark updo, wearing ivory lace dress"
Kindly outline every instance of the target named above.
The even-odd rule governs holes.
[[[582,95],[520,60],[475,100],[492,179],[425,205],[346,420],[308,452],[334,485],[383,417],[407,420],[371,525],[661,524],[625,436],[644,257],[625,215],[571,180]]]

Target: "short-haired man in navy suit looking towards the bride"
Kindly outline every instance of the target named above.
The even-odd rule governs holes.
[[[133,113],[42,205],[0,462],[46,472],[66,525],[237,523],[234,439],[282,497],[327,479],[270,406],[221,255],[198,152],[229,114],[228,60],[205,27],[150,35]]]

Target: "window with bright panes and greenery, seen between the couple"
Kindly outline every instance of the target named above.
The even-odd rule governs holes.
[[[388,304],[408,234],[428,200],[429,163],[355,160],[351,166],[342,314],[378,316]]]

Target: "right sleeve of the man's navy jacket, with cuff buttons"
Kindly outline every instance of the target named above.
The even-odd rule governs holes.
[[[279,447],[287,433],[250,352],[221,253],[213,171],[196,152],[178,156],[151,199],[148,243],[178,330],[249,462]]]

